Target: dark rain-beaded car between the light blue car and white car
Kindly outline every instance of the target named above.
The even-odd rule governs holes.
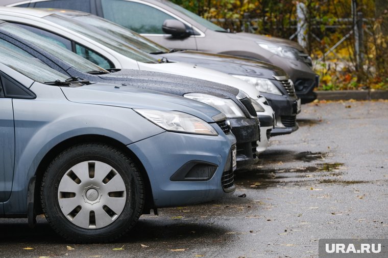
[[[125,69],[109,72],[61,47],[58,45],[60,42],[4,21],[0,21],[0,39],[0,46],[8,46],[23,55],[34,57],[70,77],[179,95],[223,111],[237,140],[237,168],[257,161],[258,145],[268,147],[268,142],[260,142],[255,108],[250,99],[236,88],[165,73]]]

